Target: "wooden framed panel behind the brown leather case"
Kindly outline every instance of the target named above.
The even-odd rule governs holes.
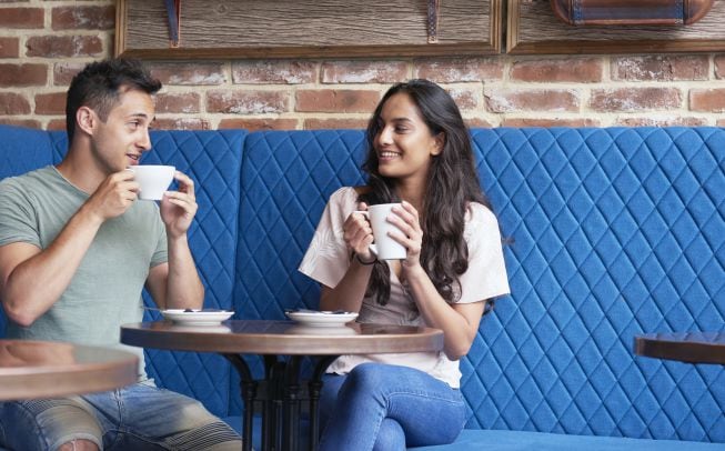
[[[725,50],[725,0],[689,26],[583,26],[564,23],[550,0],[508,0],[506,52],[641,53]]]

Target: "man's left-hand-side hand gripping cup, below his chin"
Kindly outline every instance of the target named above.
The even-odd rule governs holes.
[[[120,217],[137,200],[139,183],[133,181],[133,172],[115,172],[101,182],[85,202],[88,211],[101,222]]]

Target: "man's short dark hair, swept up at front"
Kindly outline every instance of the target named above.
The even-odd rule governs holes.
[[[120,58],[91,62],[73,77],[66,100],[68,142],[73,140],[78,109],[89,107],[105,122],[122,88],[153,94],[161,89],[161,82],[141,62]]]

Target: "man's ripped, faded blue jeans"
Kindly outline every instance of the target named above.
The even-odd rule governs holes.
[[[197,400],[141,382],[120,390],[0,403],[0,444],[56,450],[71,440],[99,450],[235,450],[239,435]]]

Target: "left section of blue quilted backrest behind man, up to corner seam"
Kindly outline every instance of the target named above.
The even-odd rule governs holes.
[[[153,149],[143,157],[144,163],[173,164],[195,182],[199,211],[189,240],[207,290],[207,307],[232,307],[239,171],[245,136],[244,130],[153,131]],[[68,147],[64,132],[0,126],[0,178],[57,163]],[[149,304],[148,295],[144,298]],[[147,313],[147,319],[158,318]],[[4,318],[1,322],[4,327]],[[223,358],[147,350],[147,370],[159,385],[201,400],[214,414],[228,414],[231,369]]]

